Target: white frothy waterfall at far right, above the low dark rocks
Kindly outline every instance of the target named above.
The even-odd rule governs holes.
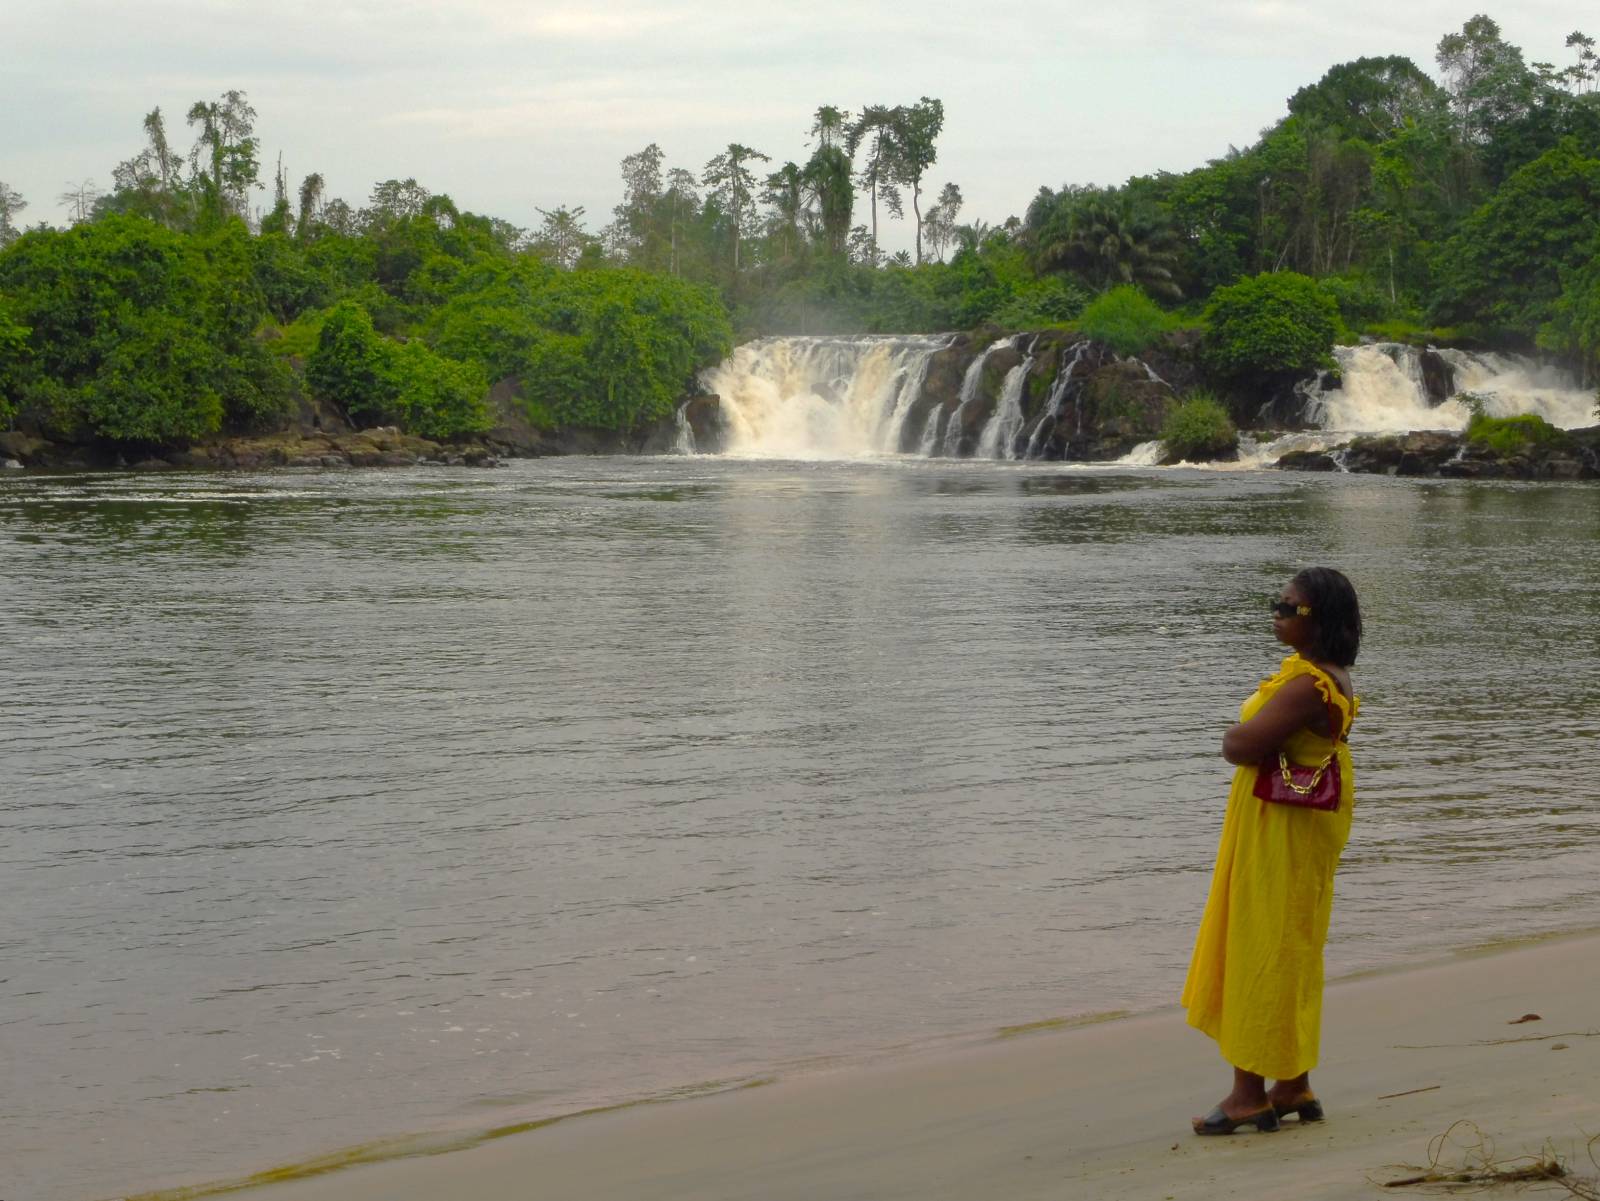
[[[1422,352],[1411,345],[1381,342],[1341,345],[1333,355],[1341,382],[1306,387],[1306,417],[1325,430],[1344,433],[1400,433],[1405,430],[1462,430],[1472,416],[1462,393],[1483,400],[1491,417],[1536,413],[1552,425],[1592,425],[1595,397],[1579,389],[1563,371],[1541,366],[1520,355],[1435,350],[1453,373],[1453,393],[1440,405],[1429,401]]]

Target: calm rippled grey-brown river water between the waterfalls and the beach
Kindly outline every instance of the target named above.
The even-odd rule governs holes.
[[[1173,1004],[1314,561],[1330,972],[1600,924],[1592,485],[13,473],[0,557],[10,1201]]]

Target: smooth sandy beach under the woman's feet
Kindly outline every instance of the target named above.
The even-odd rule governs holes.
[[[1600,1134],[1600,936],[1330,985],[1328,1121],[1198,1139],[1226,1065],[1178,1009],[576,1116],[470,1150],[251,1183],[251,1201],[818,1201],[1394,1195]],[[1518,1020],[1536,1014],[1538,1020]],[[1472,1126],[1456,1126],[1472,1123]],[[259,1177],[258,1177],[259,1180]],[[243,1182],[240,1182],[243,1183]]]

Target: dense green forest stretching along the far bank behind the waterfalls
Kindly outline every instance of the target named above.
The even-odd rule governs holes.
[[[26,227],[0,182],[0,422],[173,445],[272,429],[298,397],[358,425],[486,430],[504,381],[536,427],[635,430],[762,333],[1074,328],[1123,353],[1192,329],[1224,393],[1328,361],[1336,341],[1458,341],[1600,368],[1594,42],[1528,62],[1486,16],[1437,78],[1363,58],[1288,99],[1248,149],[1115,187],[1040,187],[963,221],[934,174],[944,107],[816,109],[774,168],[730,142],[702,170],[651,144],[598,230],[461,211],[414,179],[360,206],[322,176],[262,179],[240,91],[160,109],[110,187]],[[131,142],[133,139],[130,139]],[[270,203],[267,198],[270,197]],[[1022,200],[1022,198],[1019,198]],[[885,254],[886,222],[914,251]]]

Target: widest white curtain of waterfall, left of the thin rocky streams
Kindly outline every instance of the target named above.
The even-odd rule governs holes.
[[[928,363],[950,337],[763,337],[701,374],[728,424],[728,454],[893,454]]]

